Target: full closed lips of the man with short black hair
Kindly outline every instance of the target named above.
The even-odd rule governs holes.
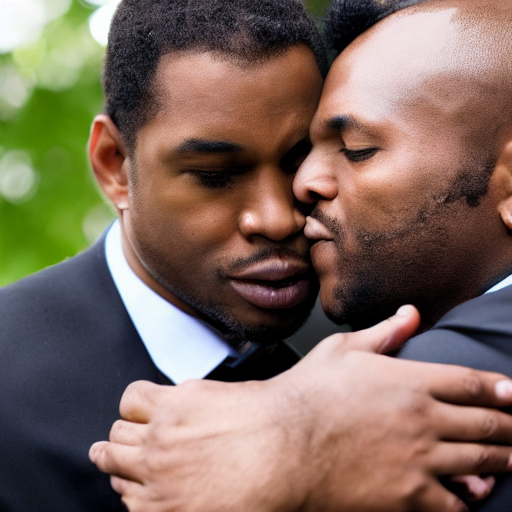
[[[299,261],[263,261],[231,276],[231,286],[254,306],[292,308],[304,302],[310,294],[310,268]]]

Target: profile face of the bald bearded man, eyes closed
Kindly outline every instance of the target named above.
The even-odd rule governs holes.
[[[487,237],[502,229],[486,194],[496,144],[479,125],[485,109],[439,57],[450,16],[363,35],[334,62],[312,122],[294,192],[316,202],[305,233],[322,305],[355,328],[404,303],[431,325],[475,293],[467,283],[485,279]]]

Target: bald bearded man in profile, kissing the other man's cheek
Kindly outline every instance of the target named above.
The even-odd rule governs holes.
[[[512,3],[423,2],[348,45],[346,21],[294,182],[324,310],[362,329],[415,304],[399,357],[511,375]],[[472,509],[512,510],[512,479]]]

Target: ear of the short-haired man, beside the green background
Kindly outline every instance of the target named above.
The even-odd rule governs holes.
[[[117,126],[107,115],[94,118],[89,158],[96,181],[112,204],[118,211],[128,209],[129,158]]]

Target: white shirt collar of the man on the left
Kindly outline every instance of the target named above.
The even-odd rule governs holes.
[[[105,240],[108,268],[156,367],[175,384],[201,379],[238,352],[213,329],[184,313],[143,283],[128,265],[116,221]]]

